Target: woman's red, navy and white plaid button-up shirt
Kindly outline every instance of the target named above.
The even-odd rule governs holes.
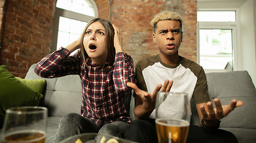
[[[82,82],[81,116],[91,119],[96,125],[115,121],[131,122],[125,110],[124,93],[129,91],[127,82],[135,82],[131,56],[119,52],[115,63],[100,69],[91,58],[82,60],[69,56],[70,51],[61,48],[44,57],[35,68],[41,77],[60,77],[79,74]]]

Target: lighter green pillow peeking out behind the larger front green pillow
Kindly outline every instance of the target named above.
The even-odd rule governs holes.
[[[39,92],[40,94],[42,93],[44,84],[46,83],[46,80],[44,79],[22,79],[20,77],[15,78],[22,82],[24,85],[28,86],[33,91]]]

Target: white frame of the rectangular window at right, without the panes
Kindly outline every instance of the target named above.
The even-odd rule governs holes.
[[[236,21],[229,22],[207,22],[197,21],[197,63],[200,64],[200,29],[231,29],[232,30],[232,46],[233,46],[233,71],[239,69],[240,48],[239,48],[239,11],[236,8],[227,9],[212,9],[212,8],[199,8],[197,11],[236,11]],[[222,72],[224,70],[204,69],[206,73],[209,72]]]

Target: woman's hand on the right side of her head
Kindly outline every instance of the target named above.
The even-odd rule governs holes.
[[[118,52],[124,52],[124,49],[122,47],[122,36],[121,33],[118,30],[118,27],[115,26],[115,24],[112,24],[114,30],[115,30],[115,36],[114,36],[114,46],[116,48],[116,53]]]

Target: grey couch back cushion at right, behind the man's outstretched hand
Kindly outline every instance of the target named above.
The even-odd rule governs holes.
[[[248,71],[206,73],[206,77],[212,101],[219,98],[222,105],[230,104],[233,99],[243,101],[241,107],[221,119],[220,127],[256,129],[256,91]]]

